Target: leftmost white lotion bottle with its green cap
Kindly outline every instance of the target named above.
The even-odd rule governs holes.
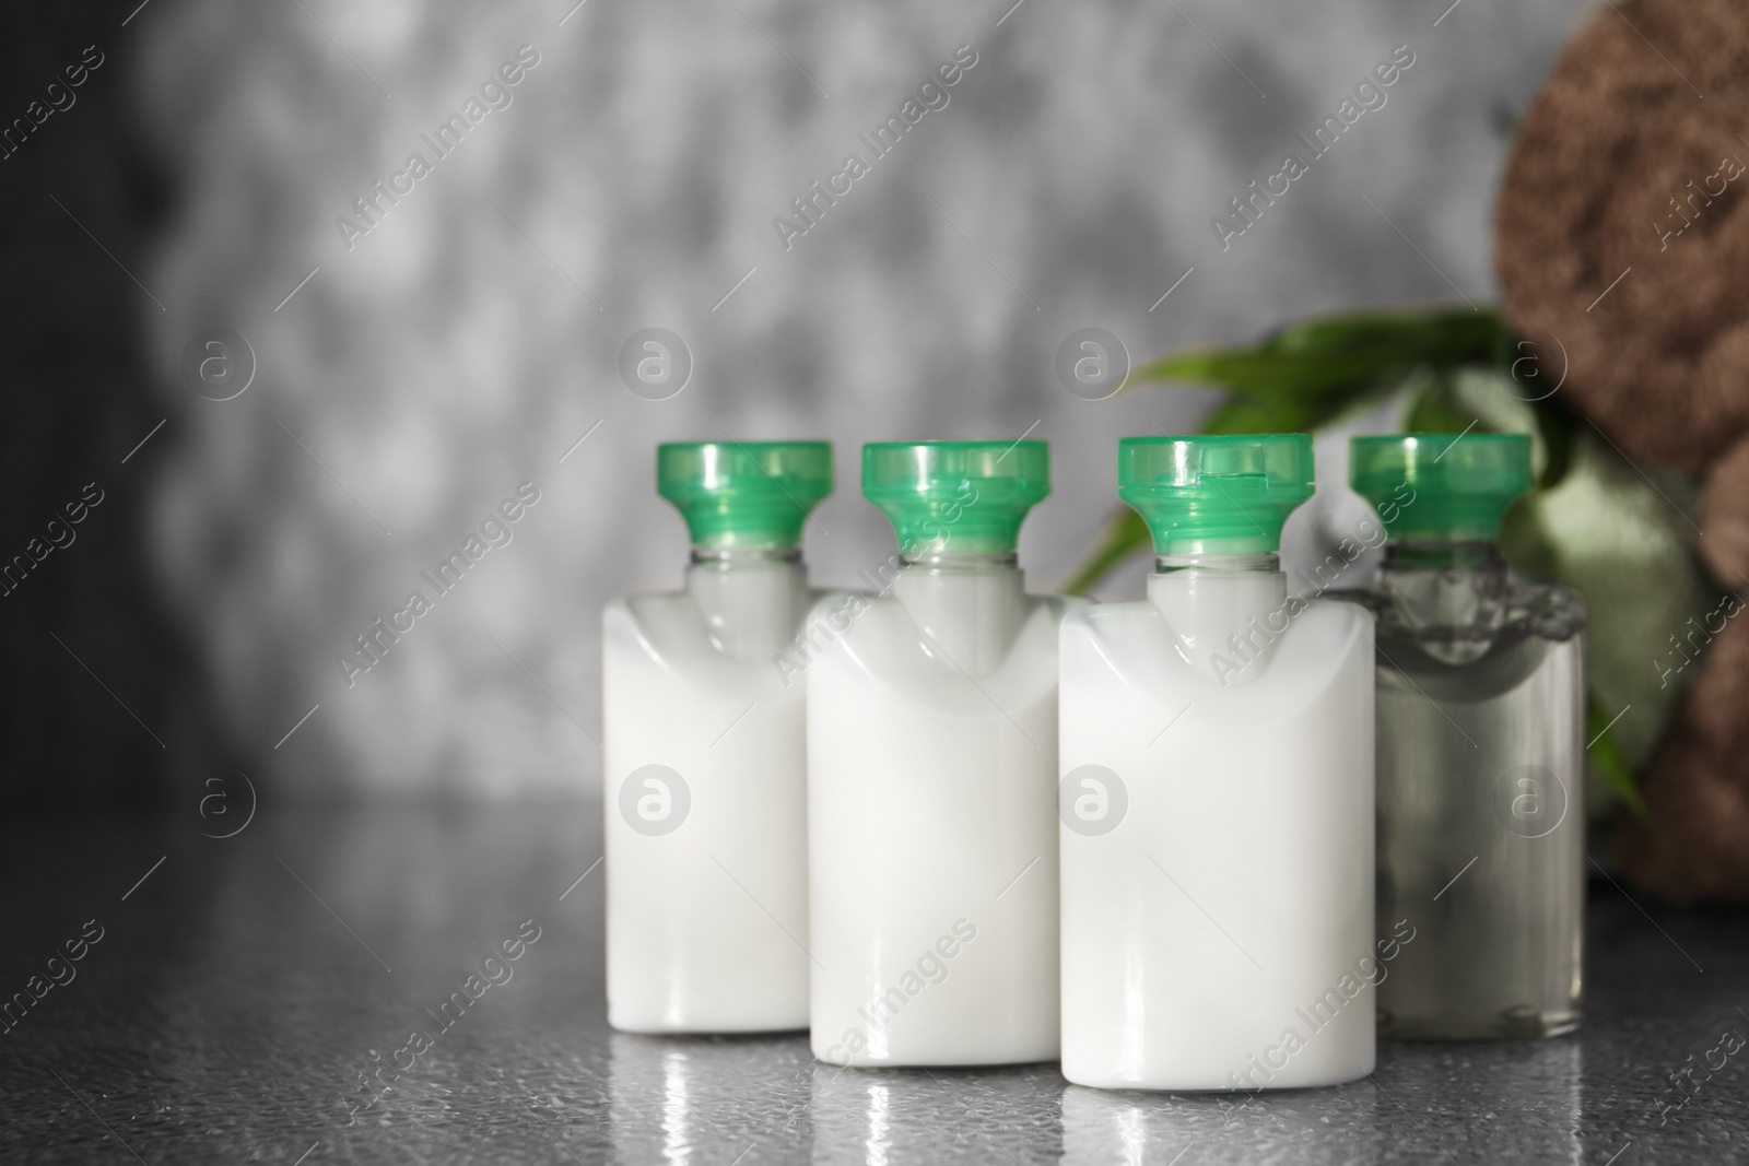
[[[665,444],[686,589],[602,615],[607,1019],[644,1033],[808,1023],[803,689],[771,666],[815,594],[833,448]]]

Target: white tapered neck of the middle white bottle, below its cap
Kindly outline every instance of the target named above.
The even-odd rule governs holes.
[[[1014,552],[899,559],[892,594],[941,664],[983,677],[1007,659],[1025,622],[1025,577]]]

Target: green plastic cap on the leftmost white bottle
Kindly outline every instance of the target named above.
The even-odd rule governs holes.
[[[833,444],[665,442],[656,448],[656,493],[686,517],[696,547],[792,547],[808,510],[833,493]]]

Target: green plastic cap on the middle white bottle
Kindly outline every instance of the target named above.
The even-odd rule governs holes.
[[[862,493],[885,510],[899,554],[1009,554],[1027,510],[1051,493],[1042,441],[862,446]]]

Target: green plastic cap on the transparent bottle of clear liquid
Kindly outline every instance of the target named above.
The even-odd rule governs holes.
[[[1494,542],[1530,489],[1527,434],[1383,434],[1348,442],[1348,482],[1390,538]]]

